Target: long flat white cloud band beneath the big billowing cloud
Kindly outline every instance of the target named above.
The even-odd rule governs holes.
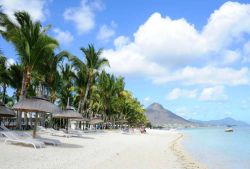
[[[250,81],[249,69],[243,67],[239,70],[234,68],[218,68],[206,66],[202,68],[185,67],[181,70],[153,78],[155,83],[183,81],[185,85],[246,85]]]

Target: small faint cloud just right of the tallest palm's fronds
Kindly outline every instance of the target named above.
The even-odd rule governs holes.
[[[70,44],[74,37],[69,31],[62,31],[59,28],[53,29],[53,32],[55,33],[55,38],[62,44],[68,45]]]

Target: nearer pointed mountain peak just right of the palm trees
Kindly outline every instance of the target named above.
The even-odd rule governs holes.
[[[153,126],[191,127],[193,125],[192,122],[164,109],[164,107],[158,103],[151,104],[146,109],[145,114]]]

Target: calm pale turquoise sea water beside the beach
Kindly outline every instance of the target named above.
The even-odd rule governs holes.
[[[250,169],[250,128],[185,129],[184,149],[209,169]]]

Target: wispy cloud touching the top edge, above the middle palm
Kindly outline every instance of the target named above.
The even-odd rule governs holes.
[[[89,32],[95,27],[95,13],[103,9],[98,0],[82,0],[80,7],[70,7],[64,11],[64,19],[74,22],[79,34]]]

